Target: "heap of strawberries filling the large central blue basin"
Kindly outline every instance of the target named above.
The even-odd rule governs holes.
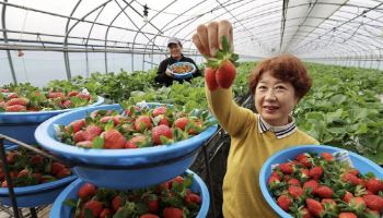
[[[59,125],[57,137],[62,143],[85,148],[139,148],[183,141],[211,124],[208,111],[134,106],[123,113],[116,110],[93,111],[84,119]]]

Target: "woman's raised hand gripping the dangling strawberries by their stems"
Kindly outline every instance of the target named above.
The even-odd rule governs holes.
[[[222,36],[229,40],[233,51],[233,27],[229,21],[211,22],[207,26],[199,25],[197,33],[193,35],[193,43],[199,52],[207,57],[216,57],[218,49],[222,49]]]

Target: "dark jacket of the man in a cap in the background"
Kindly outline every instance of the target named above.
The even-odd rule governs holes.
[[[173,63],[176,63],[176,62],[189,62],[189,63],[193,63],[196,66],[196,72],[193,73],[192,77],[188,77],[188,78],[185,78],[185,80],[178,80],[178,78],[174,78],[174,77],[171,77],[171,76],[166,75],[165,72],[166,72],[167,66],[170,66],[170,65],[172,65]],[[193,77],[201,76],[201,73],[200,73],[197,64],[194,62],[194,60],[190,59],[190,58],[186,58],[183,55],[182,55],[181,60],[175,60],[172,57],[166,58],[165,60],[163,60],[160,63],[159,71],[156,72],[156,74],[158,75],[154,78],[155,83],[160,83],[160,84],[163,84],[165,86],[171,86],[173,84],[173,81],[178,81],[179,83],[183,83],[184,81],[190,82]]]

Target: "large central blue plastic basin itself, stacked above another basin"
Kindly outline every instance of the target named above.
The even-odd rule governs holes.
[[[154,105],[149,104],[149,106]],[[69,161],[101,165],[96,167],[76,166],[73,171],[82,180],[103,187],[119,190],[144,187],[165,182],[183,173],[197,156],[197,153],[194,152],[217,130],[217,125],[213,125],[182,142],[139,149],[89,149],[67,145],[56,140],[56,124],[69,124],[73,120],[82,119],[88,113],[101,109],[121,110],[119,105],[109,105],[62,113],[42,123],[35,132],[35,137],[44,148],[67,158]],[[176,158],[178,159],[175,161],[169,161]],[[142,165],[152,166],[141,169],[111,169]]]

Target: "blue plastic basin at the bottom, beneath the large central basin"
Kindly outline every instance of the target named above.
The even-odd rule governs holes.
[[[210,196],[209,191],[204,183],[204,181],[198,177],[198,174],[194,173],[192,170],[186,170],[185,174],[194,174],[193,177],[193,185],[192,190],[194,192],[200,193],[201,196],[201,207],[197,215],[197,218],[205,218],[208,215]],[[78,190],[84,183],[81,179],[76,180],[67,189],[65,189],[61,194],[56,198],[54,206],[50,210],[50,218],[69,218],[72,217],[72,208],[65,205],[63,202],[66,199],[77,199],[78,198]]]

